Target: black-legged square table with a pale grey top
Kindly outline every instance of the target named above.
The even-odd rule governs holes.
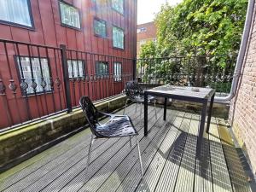
[[[201,123],[198,131],[198,139],[196,146],[196,156],[201,154],[201,144],[203,140],[203,133],[205,131],[205,123],[207,117],[207,106],[210,100],[210,107],[207,119],[207,132],[209,131],[212,117],[212,105],[215,96],[215,90],[210,88],[195,88],[195,87],[183,87],[174,85],[162,85],[155,87],[151,90],[144,91],[144,136],[148,136],[148,96],[160,96],[165,97],[164,107],[164,120],[166,120],[166,104],[167,99],[177,99],[187,102],[198,102],[202,104],[201,109]]]

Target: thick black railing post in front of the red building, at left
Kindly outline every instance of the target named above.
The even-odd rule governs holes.
[[[66,96],[67,113],[72,112],[72,103],[70,96],[70,84],[68,78],[68,67],[67,67],[67,48],[65,44],[61,44],[61,62],[63,68],[63,79],[64,79],[64,90]]]

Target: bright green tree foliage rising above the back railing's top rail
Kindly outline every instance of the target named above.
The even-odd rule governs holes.
[[[155,55],[236,55],[246,11],[247,0],[183,0],[176,7],[166,3],[155,19]],[[144,46],[140,57],[152,56],[148,50]]]

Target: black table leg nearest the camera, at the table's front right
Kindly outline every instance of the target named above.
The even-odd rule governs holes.
[[[203,141],[203,134],[205,130],[205,123],[206,123],[206,117],[207,117],[207,102],[203,102],[203,106],[201,109],[201,123],[199,127],[199,133],[198,133],[198,138],[197,138],[197,146],[196,146],[196,156],[200,157],[201,154],[201,144]]]

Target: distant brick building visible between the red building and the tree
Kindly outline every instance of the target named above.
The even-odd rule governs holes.
[[[141,46],[148,41],[156,41],[156,27],[154,22],[137,25],[137,57],[140,53]]]

